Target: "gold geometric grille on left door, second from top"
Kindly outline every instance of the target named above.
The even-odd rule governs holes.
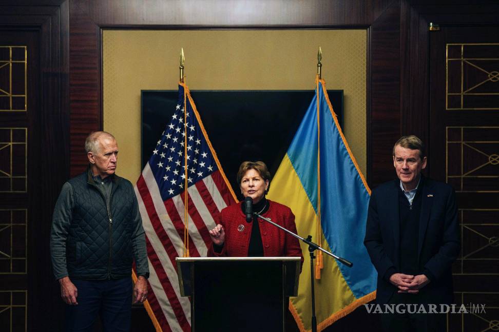
[[[27,139],[26,128],[0,128],[0,193],[27,191]]]

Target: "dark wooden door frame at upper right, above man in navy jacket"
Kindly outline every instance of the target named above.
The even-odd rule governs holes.
[[[402,35],[406,37],[401,54],[407,57],[401,67],[401,129],[402,134],[416,133],[425,142],[431,154],[432,134],[430,129],[430,22],[445,26],[499,26],[499,5],[491,1],[460,1],[452,4],[433,4],[430,1],[404,3],[402,22],[409,22]],[[434,167],[438,167],[433,163]],[[431,177],[432,163],[426,170]],[[438,178],[438,176],[436,177]],[[440,178],[438,178],[440,179]],[[443,179],[440,179],[443,180]]]

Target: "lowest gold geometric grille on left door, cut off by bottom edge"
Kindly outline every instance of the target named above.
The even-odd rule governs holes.
[[[27,331],[27,291],[0,291],[0,330]]]

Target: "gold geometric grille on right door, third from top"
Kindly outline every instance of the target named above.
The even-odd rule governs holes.
[[[499,209],[459,209],[461,252],[454,275],[499,276]]]

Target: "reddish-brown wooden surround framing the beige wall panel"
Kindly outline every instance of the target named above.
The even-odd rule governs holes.
[[[234,11],[236,5],[243,3],[245,12]],[[118,6],[110,0],[71,1],[69,56],[72,175],[86,167],[86,158],[82,153],[85,134],[102,128],[103,29],[341,28],[368,30],[367,175],[374,184],[392,177],[392,173],[388,172],[390,158],[386,155],[401,132],[401,60],[399,43],[393,43],[391,37],[400,38],[400,1],[279,0],[271,3],[258,0],[247,3],[240,0],[188,0],[181,4],[157,2],[151,7],[140,4],[130,1]],[[181,15],[185,11],[189,12],[188,18]],[[147,18],[147,25],[143,24],[144,18]],[[389,128],[387,124],[390,124]]]

